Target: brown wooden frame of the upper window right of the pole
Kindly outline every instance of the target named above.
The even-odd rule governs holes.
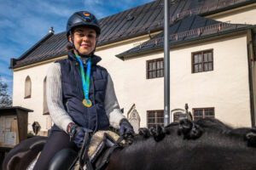
[[[204,61],[204,54],[207,53],[212,53],[212,61]],[[201,63],[196,63],[196,64],[201,64],[202,65],[202,71],[197,71],[195,72],[195,55],[196,54],[201,54]],[[196,51],[191,53],[191,72],[192,74],[194,73],[200,73],[200,72],[207,72],[205,71],[205,63],[212,63],[212,70],[207,70],[207,71],[214,71],[213,63],[214,63],[214,58],[213,58],[213,48],[211,49],[206,49],[206,50],[201,50],[201,51]]]

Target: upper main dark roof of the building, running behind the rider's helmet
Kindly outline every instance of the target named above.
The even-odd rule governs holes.
[[[256,2],[255,0],[175,0],[175,3],[171,3],[171,1],[171,24],[189,14],[207,14],[217,10],[219,12],[227,7],[232,8]],[[163,7],[163,0],[155,0],[99,20],[102,34],[99,37],[98,46],[145,35],[148,31],[162,30],[164,26]],[[180,29],[185,29],[185,27]],[[19,59],[11,59],[10,67],[18,68],[67,54],[66,45],[66,32],[54,35],[49,33],[25,54],[22,54]]]

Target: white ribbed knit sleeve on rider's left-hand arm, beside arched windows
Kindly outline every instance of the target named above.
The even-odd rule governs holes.
[[[46,81],[49,115],[57,127],[67,132],[68,123],[73,121],[62,102],[61,65],[59,63],[53,63],[49,66]]]

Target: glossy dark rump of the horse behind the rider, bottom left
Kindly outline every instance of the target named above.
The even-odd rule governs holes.
[[[25,170],[43,150],[46,141],[47,137],[36,136],[15,145],[3,160],[3,170]]]

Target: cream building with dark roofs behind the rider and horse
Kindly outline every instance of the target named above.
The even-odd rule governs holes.
[[[213,116],[236,127],[255,126],[256,2],[179,0],[171,11],[171,122],[184,111]],[[113,78],[119,105],[134,127],[163,124],[163,1],[100,20],[96,54]],[[67,57],[66,32],[49,34],[12,59],[13,105],[45,135],[51,120],[45,101],[49,65]],[[176,117],[176,118],[175,118]]]

